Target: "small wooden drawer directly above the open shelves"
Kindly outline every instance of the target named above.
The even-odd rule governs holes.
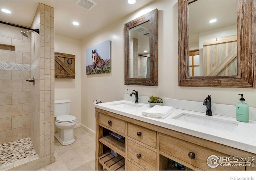
[[[100,124],[116,133],[125,134],[125,121],[100,113]]]

